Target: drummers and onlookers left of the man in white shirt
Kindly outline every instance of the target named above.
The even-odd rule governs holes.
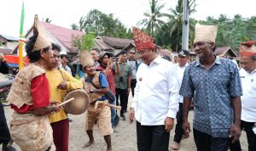
[[[79,81],[71,75],[67,66],[67,56],[61,55],[60,52],[61,48],[49,41],[36,15],[33,36],[26,42],[26,54],[30,64],[15,76],[7,98],[14,109],[10,121],[12,141],[21,150],[68,150],[67,112],[58,104],[63,102],[68,91],[84,89],[90,96],[90,105],[85,117],[85,131],[90,141],[82,147],[86,148],[94,143],[93,127],[97,122],[99,131],[107,143],[107,150],[112,150],[110,134],[113,132],[115,121],[111,123],[111,115],[116,112],[105,105],[95,109],[95,103],[108,102],[106,94],[111,91],[117,98],[121,98],[117,104],[123,107],[120,118],[123,117],[125,120],[123,114],[127,110],[128,93],[131,88],[131,68],[126,63],[126,54],[119,54],[119,60],[113,64],[109,53],[101,53],[96,55],[99,59],[95,65],[93,55],[81,51],[80,63],[85,76]],[[119,85],[116,85],[116,82],[119,82]],[[135,85],[133,81],[133,88]],[[6,143],[9,141],[6,140]]]

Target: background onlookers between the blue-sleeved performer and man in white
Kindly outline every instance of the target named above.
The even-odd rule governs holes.
[[[125,51],[119,53],[118,56],[113,57],[111,53],[102,52],[97,48],[90,50],[90,54],[95,62],[97,71],[102,71],[107,78],[108,87],[115,95],[115,105],[120,105],[122,109],[119,115],[112,109],[112,125],[115,127],[119,119],[125,120],[125,113],[127,112],[128,97],[131,92],[134,96],[134,89],[137,83],[137,68],[140,64],[136,57],[136,52],[131,49],[128,55]],[[116,59],[116,60],[113,60]]]

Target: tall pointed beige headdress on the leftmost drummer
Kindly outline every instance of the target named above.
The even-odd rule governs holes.
[[[46,36],[44,26],[41,21],[38,20],[38,14],[35,15],[34,25],[33,25],[33,35],[38,35],[37,41],[35,42],[34,51],[41,50],[42,48],[47,48],[51,46],[51,42]]]

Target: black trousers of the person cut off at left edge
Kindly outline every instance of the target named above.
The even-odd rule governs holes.
[[[0,144],[3,143],[7,145],[9,143],[11,137],[9,134],[9,128],[7,126],[7,122],[4,115],[3,104],[0,101]]]

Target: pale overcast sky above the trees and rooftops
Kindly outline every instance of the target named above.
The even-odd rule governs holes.
[[[159,0],[165,3],[163,11],[175,8],[177,0]],[[32,27],[34,14],[40,20],[49,18],[52,24],[71,28],[81,16],[97,8],[105,14],[112,13],[126,27],[137,25],[143,20],[143,13],[149,10],[149,0],[25,0],[24,34]],[[0,34],[19,36],[20,12],[22,0],[0,0]],[[195,0],[196,13],[192,15],[197,20],[205,20],[207,16],[218,18],[219,14],[234,14],[243,17],[256,15],[255,0]]]

